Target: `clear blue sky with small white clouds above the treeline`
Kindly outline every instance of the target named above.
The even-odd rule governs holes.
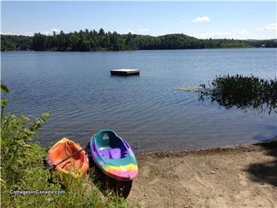
[[[105,31],[276,38],[276,1],[1,1],[1,33]]]

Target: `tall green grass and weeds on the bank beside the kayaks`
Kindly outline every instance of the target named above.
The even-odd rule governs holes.
[[[2,89],[2,84],[1,84]],[[8,93],[8,88],[1,90]],[[5,113],[7,101],[1,100],[1,207],[130,207],[120,196],[100,196],[89,175],[71,175],[44,170],[47,149],[33,142],[46,116],[29,119]],[[93,173],[89,173],[93,174]],[[10,194],[16,191],[65,191],[65,194]]]

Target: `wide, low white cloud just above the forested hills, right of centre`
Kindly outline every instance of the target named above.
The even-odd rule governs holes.
[[[193,34],[193,36],[201,38],[201,39],[208,39],[208,38],[213,38],[213,39],[222,39],[222,38],[243,39],[244,35],[249,35],[249,34],[250,33],[247,32],[246,30],[234,29],[233,31],[227,31],[227,32],[209,32],[209,33],[195,32]]]

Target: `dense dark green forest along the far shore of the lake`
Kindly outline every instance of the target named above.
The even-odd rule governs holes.
[[[220,49],[246,47],[277,47],[277,40],[227,40],[197,39],[184,34],[161,36],[118,34],[101,28],[100,31],[74,33],[53,32],[53,35],[35,33],[24,35],[1,35],[1,51],[132,51],[152,49]]]

